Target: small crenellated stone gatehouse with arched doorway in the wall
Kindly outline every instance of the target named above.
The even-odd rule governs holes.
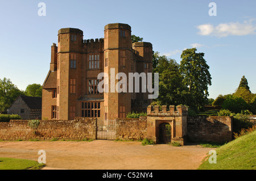
[[[184,145],[187,136],[188,107],[171,105],[147,107],[147,138],[159,144],[160,142],[179,142]]]

